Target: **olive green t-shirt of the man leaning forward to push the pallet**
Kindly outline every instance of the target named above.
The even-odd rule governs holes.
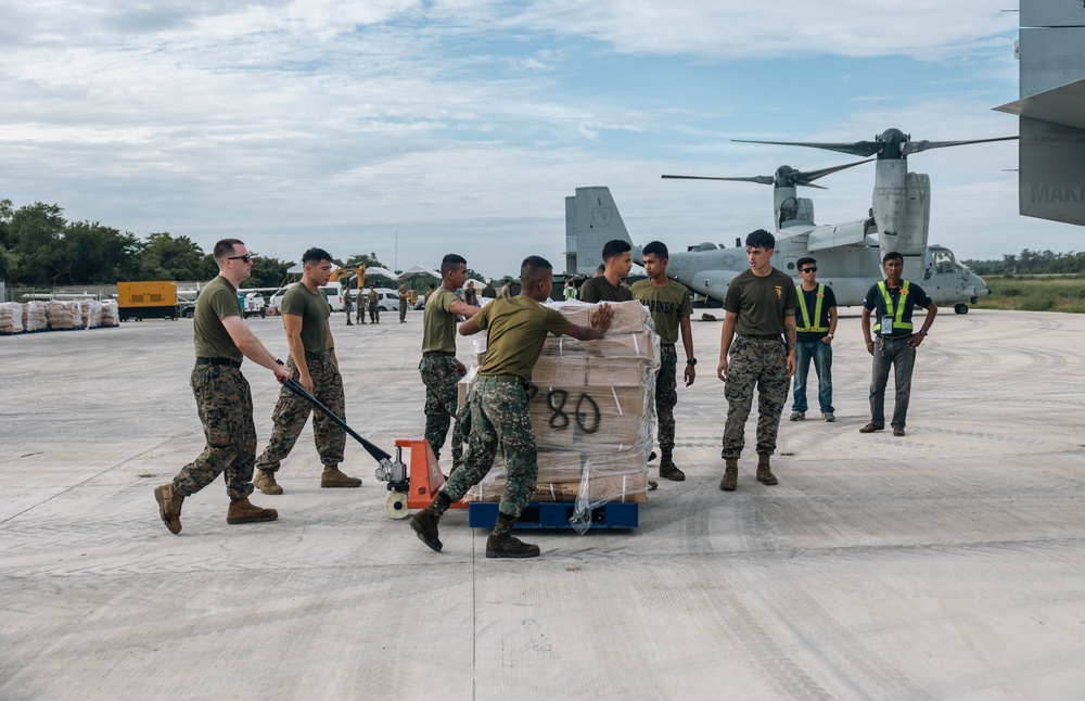
[[[560,336],[569,328],[569,319],[560,311],[522,294],[495,299],[473,318],[488,331],[486,359],[478,374],[514,374],[525,380],[542,353],[546,334]]]

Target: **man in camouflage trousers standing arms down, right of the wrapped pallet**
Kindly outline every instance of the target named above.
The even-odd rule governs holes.
[[[739,273],[724,297],[717,374],[725,381],[727,423],[722,456],[726,462],[719,488],[732,492],[738,459],[745,446],[745,422],[757,391],[757,481],[779,481],[769,466],[776,451],[780,415],[795,368],[795,306],[799,296],[790,276],[773,268],[776,239],[764,229],[746,237],[750,269]],[[737,334],[737,337],[736,337]],[[787,340],[784,340],[787,336]],[[729,355],[729,357],[728,357]]]

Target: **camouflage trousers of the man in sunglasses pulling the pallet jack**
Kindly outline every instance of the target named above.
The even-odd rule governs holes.
[[[230,366],[197,365],[189,380],[196,398],[207,446],[181,468],[174,488],[192,496],[226,473],[226,493],[239,501],[253,493],[253,462],[256,459],[256,425],[253,395],[245,375]]]

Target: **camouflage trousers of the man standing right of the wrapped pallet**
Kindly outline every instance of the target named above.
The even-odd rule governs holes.
[[[745,422],[757,388],[757,455],[776,451],[780,415],[788,402],[788,349],[780,339],[737,336],[727,365],[727,425],[723,457],[738,458],[745,446]]]

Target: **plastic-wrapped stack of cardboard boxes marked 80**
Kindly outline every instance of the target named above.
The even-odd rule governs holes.
[[[550,306],[573,323],[588,326],[596,305],[570,301]],[[533,500],[575,501],[575,512],[584,519],[600,504],[648,500],[659,336],[648,308],[639,302],[611,306],[614,318],[603,339],[549,336],[532,375],[537,387],[531,412],[539,468]],[[472,367],[460,381],[461,406],[485,352],[483,332],[474,337]],[[464,500],[498,501],[505,482],[498,456]],[[576,530],[583,533],[586,527],[585,522]]]

